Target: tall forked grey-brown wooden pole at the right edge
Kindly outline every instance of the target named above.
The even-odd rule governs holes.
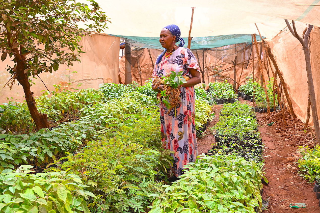
[[[313,76],[312,76],[312,70],[311,70],[310,47],[309,47],[309,36],[310,36],[311,30],[313,29],[313,25],[309,25],[309,24],[307,25],[307,29],[303,33],[303,38],[301,38],[300,35],[297,33],[294,21],[292,21],[292,27],[288,20],[285,20],[285,23],[287,24],[288,29],[290,30],[292,35],[296,37],[302,45],[304,58],[306,60],[308,89],[309,89],[309,95],[310,95],[313,124],[315,126],[317,143],[320,144],[320,127],[319,127],[318,112],[317,112],[317,105],[316,105],[315,87],[313,84]]]

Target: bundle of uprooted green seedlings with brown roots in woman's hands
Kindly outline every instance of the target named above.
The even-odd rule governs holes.
[[[160,78],[155,77],[153,84],[158,87],[161,84],[164,84],[164,91],[160,91],[161,97],[159,98],[162,103],[168,108],[177,107],[180,101],[180,86],[184,83],[187,83],[188,77],[182,76],[183,71],[176,73],[171,71],[171,74]]]

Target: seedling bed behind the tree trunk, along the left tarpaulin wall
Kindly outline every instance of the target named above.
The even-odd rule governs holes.
[[[52,91],[52,96],[47,95],[36,98],[38,111],[48,115],[48,121],[56,123],[62,119],[76,118],[80,110],[100,101],[103,94],[94,89],[84,89],[76,92]],[[9,133],[23,134],[35,130],[26,102],[9,101],[0,105],[0,129]]]

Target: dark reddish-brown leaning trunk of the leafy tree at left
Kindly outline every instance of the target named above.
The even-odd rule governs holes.
[[[16,79],[22,85],[26,102],[30,111],[30,115],[36,124],[36,129],[49,128],[47,114],[41,114],[36,107],[36,100],[33,97],[33,92],[30,88],[27,75],[24,74],[24,61],[18,62],[16,66]]]

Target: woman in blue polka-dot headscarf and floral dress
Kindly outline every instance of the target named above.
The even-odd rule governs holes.
[[[179,40],[178,47],[175,43]],[[169,178],[169,181],[173,182],[183,173],[183,166],[188,162],[194,162],[197,156],[194,85],[200,83],[201,78],[196,58],[188,48],[183,47],[184,41],[180,38],[177,25],[164,27],[159,42],[165,49],[156,60],[152,76],[163,77],[170,74],[171,70],[176,73],[183,70],[182,75],[190,78],[180,88],[180,106],[168,110],[162,102],[160,103],[162,143],[174,152],[172,171],[175,176]],[[152,85],[152,89],[163,91],[164,85]]]

